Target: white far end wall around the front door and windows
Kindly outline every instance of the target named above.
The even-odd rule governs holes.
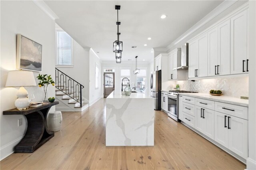
[[[151,67],[152,68],[151,68]],[[134,83],[136,85],[136,75],[133,74],[133,71],[135,70],[135,61],[134,62],[122,62],[122,63],[115,63],[112,62],[105,62],[102,63],[102,75],[104,69],[115,69],[115,90],[121,91],[121,77],[120,77],[120,71],[121,69],[129,68],[130,71],[130,86],[134,87]],[[147,69],[147,75],[146,75],[146,88],[147,92],[150,91],[150,73],[154,71],[154,62],[152,63],[139,63],[138,62],[138,69]],[[103,84],[103,83],[102,83]],[[102,85],[103,87],[103,85]]]

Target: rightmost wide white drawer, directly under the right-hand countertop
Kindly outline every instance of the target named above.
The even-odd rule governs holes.
[[[215,111],[248,120],[248,107],[215,102]]]

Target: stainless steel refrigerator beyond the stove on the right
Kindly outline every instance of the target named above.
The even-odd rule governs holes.
[[[154,98],[154,109],[161,110],[161,70],[153,71],[150,78],[150,96]]]

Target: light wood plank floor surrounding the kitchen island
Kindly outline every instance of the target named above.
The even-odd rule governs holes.
[[[246,166],[181,123],[156,111],[155,146],[106,147],[106,99],[63,112],[62,130],[31,154],[11,154],[4,169],[244,169]]]

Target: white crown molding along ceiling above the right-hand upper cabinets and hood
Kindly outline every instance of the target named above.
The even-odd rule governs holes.
[[[207,14],[204,18],[202,18],[200,21],[198,21],[194,26],[192,26],[189,30],[187,30],[184,34],[179,36],[174,42],[172,42],[170,45],[166,47],[166,50],[170,50],[174,45],[178,44],[194,32],[196,30],[200,29],[202,26],[204,26],[206,23],[208,23],[210,20],[224,12],[227,8],[235,4],[238,0],[225,0],[222,2],[219,6],[214,8],[209,14]]]

